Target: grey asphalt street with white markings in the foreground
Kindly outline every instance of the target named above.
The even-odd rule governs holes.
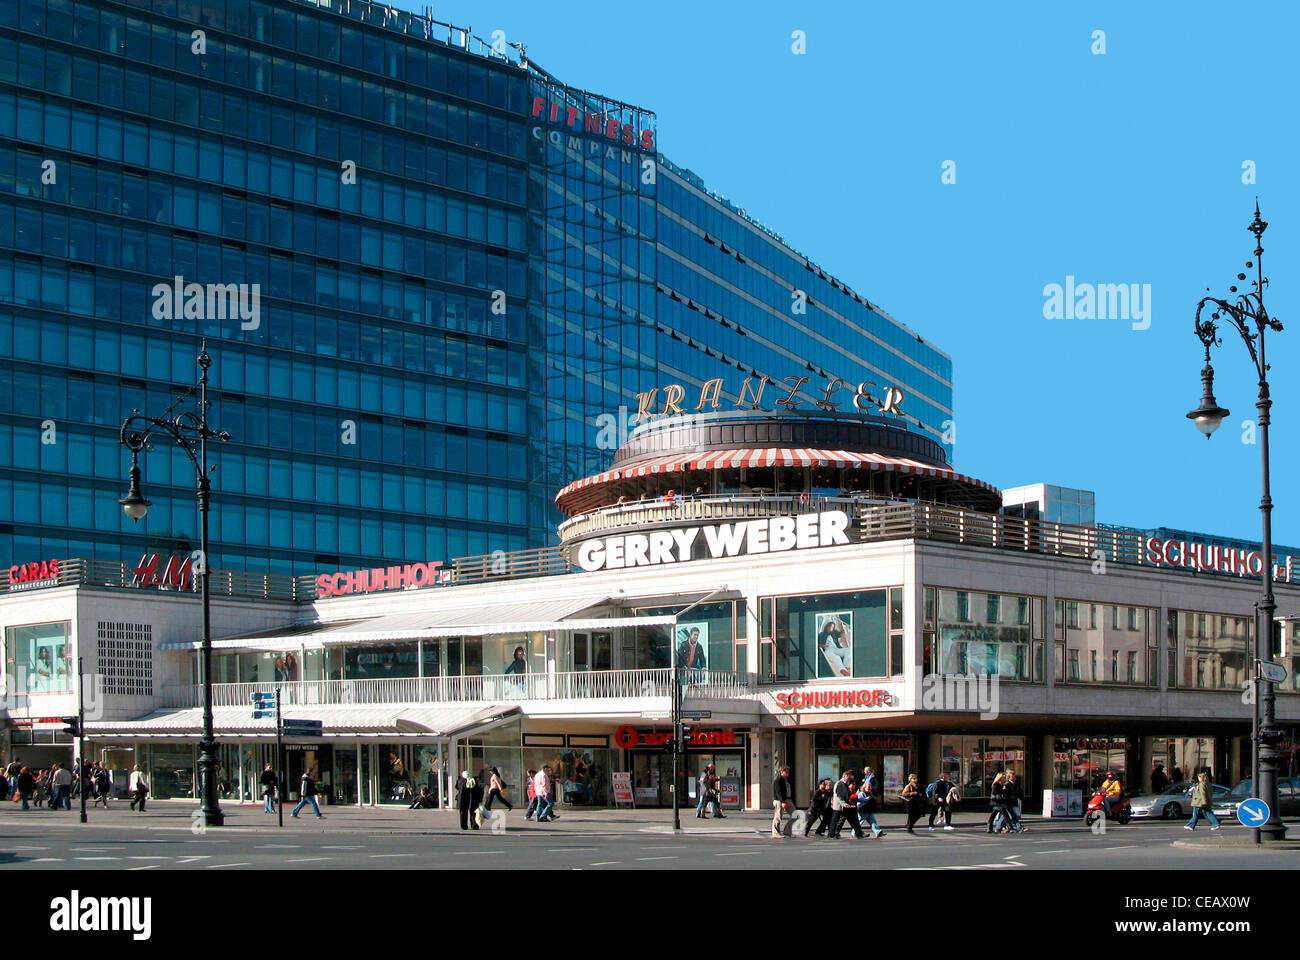
[[[260,807],[228,807],[226,826],[196,833],[191,803],[157,803],[147,814],[125,804],[91,812],[91,822],[72,813],[0,809],[3,870],[754,870],[874,869],[907,870],[1252,870],[1295,869],[1300,849],[1175,846],[1193,838],[1182,822],[1134,822],[1104,835],[1079,821],[1027,822],[1019,835],[989,835],[984,817],[958,817],[952,833],[915,835],[901,817],[887,814],[880,839],[831,840],[770,836],[770,817],[732,814],[725,822],[682,817],[671,829],[664,810],[571,810],[554,823],[506,814],[497,829],[462,833],[445,810],[326,808],[276,826]],[[1231,822],[1197,842],[1240,840]],[[1300,835],[1300,825],[1292,825]]]

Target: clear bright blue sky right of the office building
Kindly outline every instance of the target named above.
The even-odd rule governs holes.
[[[433,16],[655,111],[664,155],[953,358],[959,471],[1095,490],[1104,523],[1260,537],[1257,376],[1231,328],[1212,359],[1232,416],[1209,441],[1184,416],[1196,303],[1251,273],[1258,196],[1265,304],[1296,320],[1268,340],[1274,541],[1300,544],[1300,5],[1247,9],[450,0]],[[1136,284],[1149,311],[1052,313],[1044,290],[1067,276]]]

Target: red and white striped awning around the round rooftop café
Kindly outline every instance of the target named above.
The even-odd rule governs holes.
[[[651,473],[679,473],[689,470],[734,470],[737,467],[835,467],[844,470],[879,470],[914,476],[932,476],[970,484],[993,496],[1001,496],[996,487],[958,473],[949,467],[935,467],[905,457],[885,457],[884,454],[854,453],[852,450],[812,450],[809,447],[741,447],[736,450],[714,450],[708,453],[676,454],[673,457],[654,457],[637,460],[625,467],[607,470],[603,473],[575,480],[555,494],[555,501],[586,487],[607,484],[614,480],[650,476]]]

